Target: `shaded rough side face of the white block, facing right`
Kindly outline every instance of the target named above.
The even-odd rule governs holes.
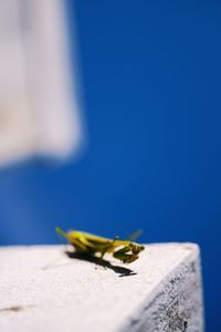
[[[202,332],[203,293],[200,249],[187,243],[188,257],[140,304],[119,332]]]

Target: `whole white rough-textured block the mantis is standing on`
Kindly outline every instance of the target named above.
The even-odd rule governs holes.
[[[129,266],[66,249],[0,249],[0,331],[203,331],[196,245],[149,245]]]

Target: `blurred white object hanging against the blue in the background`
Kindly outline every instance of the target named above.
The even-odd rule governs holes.
[[[62,0],[0,0],[0,165],[80,147],[64,11]]]

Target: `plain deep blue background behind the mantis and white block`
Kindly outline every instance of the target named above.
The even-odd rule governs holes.
[[[198,242],[207,331],[218,331],[221,3],[66,6],[70,31],[76,18],[88,146],[65,165],[1,170],[0,243],[56,242],[57,225]]]

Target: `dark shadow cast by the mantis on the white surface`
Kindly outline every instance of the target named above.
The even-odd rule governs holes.
[[[65,251],[65,255],[71,258],[71,259],[80,259],[80,260],[85,260],[92,263],[95,263],[96,266],[101,266],[107,269],[113,270],[115,273],[118,273],[118,277],[130,277],[130,276],[136,276],[137,273],[134,272],[133,270],[119,266],[113,266],[109,261],[105,259],[101,259],[95,256],[90,256],[85,253],[80,253],[75,251]]]

